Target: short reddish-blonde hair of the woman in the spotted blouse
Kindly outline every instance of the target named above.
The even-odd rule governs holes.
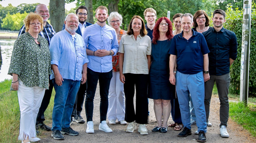
[[[31,21],[33,20],[38,20],[40,23],[41,23],[41,29],[39,32],[42,31],[42,29],[44,28],[44,25],[43,25],[43,17],[41,17],[41,15],[39,14],[36,14],[36,13],[33,13],[33,12],[30,12],[26,18],[23,20],[24,24],[25,24],[25,28],[26,28],[26,31],[25,32],[28,32],[29,31],[29,24]]]

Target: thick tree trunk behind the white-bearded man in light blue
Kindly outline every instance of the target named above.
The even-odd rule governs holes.
[[[49,14],[56,33],[61,31],[65,20],[65,0],[50,0]]]

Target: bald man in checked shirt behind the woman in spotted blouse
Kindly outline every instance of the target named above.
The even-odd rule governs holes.
[[[44,25],[44,29],[39,33],[40,36],[44,37],[47,41],[48,44],[50,44],[50,41],[52,39],[52,36],[55,35],[55,30],[52,27],[52,25],[50,25],[47,20],[50,17],[49,14],[49,9],[47,8],[46,5],[44,4],[39,4],[36,6],[35,8],[35,13],[40,14],[43,17],[43,25]],[[25,33],[25,25],[23,25],[20,28],[20,32],[19,32],[19,36],[23,33]],[[49,126],[47,126],[46,124],[44,124],[45,118],[44,118],[44,112],[47,109],[50,99],[51,99],[51,95],[52,95],[52,88],[53,88],[53,84],[52,84],[52,80],[49,80],[49,90],[46,90],[44,93],[44,98],[41,104],[41,107],[39,108],[39,112],[38,112],[38,116],[36,118],[36,129],[44,129],[47,131],[51,131],[51,128]],[[39,131],[36,131],[37,133],[39,133]]]

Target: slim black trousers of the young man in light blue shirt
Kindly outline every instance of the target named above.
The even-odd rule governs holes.
[[[87,122],[93,121],[93,100],[99,80],[100,94],[100,123],[106,121],[108,112],[108,90],[113,76],[112,70],[107,73],[99,73],[87,68],[87,91],[85,98],[85,113]]]

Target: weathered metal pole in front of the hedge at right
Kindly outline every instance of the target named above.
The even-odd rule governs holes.
[[[243,31],[241,49],[240,101],[248,103],[251,0],[244,0]]]

